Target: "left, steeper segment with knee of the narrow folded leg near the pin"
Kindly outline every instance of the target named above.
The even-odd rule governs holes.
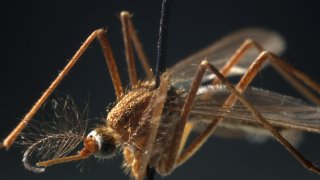
[[[126,60],[128,65],[128,73],[131,86],[135,86],[138,83],[136,65],[134,63],[133,48],[130,39],[130,30],[129,30],[129,13],[127,11],[122,11],[120,14],[121,25],[122,25],[122,34],[123,41],[126,50]]]

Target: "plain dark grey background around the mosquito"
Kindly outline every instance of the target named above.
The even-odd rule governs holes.
[[[108,28],[125,84],[126,66],[118,14],[134,13],[134,23],[148,57],[154,62],[160,1],[6,1],[1,2],[1,125],[4,138],[58,74],[81,42],[95,29]],[[172,7],[168,65],[201,49],[222,35],[247,26],[274,29],[287,40],[283,58],[319,82],[319,10],[309,1],[183,1]],[[278,76],[262,73],[258,84],[298,96]],[[90,116],[105,116],[114,90],[97,43],[58,88],[83,101]],[[90,97],[90,98],[89,98]],[[320,138],[308,134],[300,150],[319,164]],[[77,163],[50,167],[34,174],[21,164],[21,150],[0,151],[1,179],[128,179],[122,157],[90,160],[84,172]],[[93,159],[93,158],[92,158]],[[257,145],[246,140],[212,138],[186,164],[165,179],[319,179],[273,141]],[[156,179],[161,179],[159,176]]]

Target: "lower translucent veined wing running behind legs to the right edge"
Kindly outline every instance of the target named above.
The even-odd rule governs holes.
[[[191,121],[209,123],[214,117],[224,117],[223,122],[230,123],[230,126],[261,125],[240,102],[237,102],[232,109],[221,107],[230,95],[225,86],[208,86],[200,89],[198,96],[201,96],[201,92],[208,91],[212,92],[211,98],[196,100],[190,115]],[[247,89],[243,95],[275,127],[320,133],[320,107],[318,106],[311,106],[296,98],[253,87]]]

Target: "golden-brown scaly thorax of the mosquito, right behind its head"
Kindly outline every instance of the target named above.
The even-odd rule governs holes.
[[[123,150],[125,169],[131,171],[135,178],[141,176],[139,172],[141,163],[148,163],[162,175],[172,171],[170,168],[167,169],[166,162],[169,157],[169,147],[172,145],[172,134],[174,134],[175,125],[179,120],[179,113],[164,108],[158,129],[150,127],[152,126],[150,122],[154,108],[157,108],[161,102],[154,96],[156,92],[153,82],[139,83],[111,109],[106,124],[96,129],[98,134],[114,138],[117,146]],[[165,107],[174,104],[174,98],[177,97],[174,93],[176,93],[174,90],[168,91],[170,95],[165,99]],[[151,142],[153,148],[149,152],[146,146],[148,142],[150,143],[148,138],[151,131],[156,131],[156,137]],[[145,154],[149,155],[148,162],[142,162],[144,161],[142,156]]]

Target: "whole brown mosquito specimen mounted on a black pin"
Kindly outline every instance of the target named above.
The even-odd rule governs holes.
[[[53,134],[31,144],[23,155],[27,169],[43,172],[54,164],[91,156],[108,159],[121,151],[124,167],[133,178],[142,180],[147,176],[152,179],[152,175],[148,174],[153,174],[153,170],[162,176],[172,173],[215,133],[221,136],[274,137],[305,168],[320,174],[319,167],[292,145],[295,139],[285,135],[285,132],[297,131],[320,133],[320,85],[278,57],[285,49],[283,38],[266,29],[243,29],[165,69],[169,10],[170,1],[164,0],[154,73],[131,15],[123,11],[120,17],[130,89],[124,90],[105,30],[98,29],[86,39],[32,109],[5,138],[1,147],[9,149],[12,146],[91,42],[97,39],[115,89],[115,105],[105,122],[87,136],[71,136],[72,132],[67,135]],[[146,79],[142,81],[137,78],[134,50],[146,73]],[[256,74],[268,65],[315,105],[249,86]],[[228,79],[234,76],[240,76],[236,84]],[[192,131],[199,131],[200,134],[187,146]],[[60,141],[46,143],[54,138],[60,138]],[[80,142],[83,148],[72,155]],[[30,156],[36,154],[39,148],[55,155],[46,160],[39,158],[41,160],[32,165],[29,163]],[[57,149],[60,151],[52,152]]]

